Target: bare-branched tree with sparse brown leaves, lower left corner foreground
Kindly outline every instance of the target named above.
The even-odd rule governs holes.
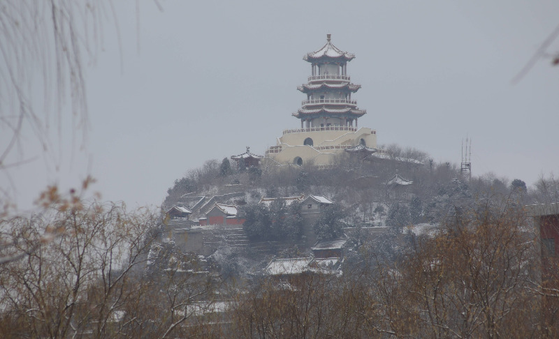
[[[56,206],[52,220],[2,225],[17,239],[6,250],[27,254],[0,266],[4,338],[108,338],[126,304],[138,299],[135,268],[152,241],[147,231],[158,225],[154,213],[79,201]],[[59,235],[45,240],[53,230]]]

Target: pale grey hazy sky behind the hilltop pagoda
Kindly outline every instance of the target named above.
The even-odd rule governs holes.
[[[300,126],[291,113],[310,75],[302,57],[326,33],[356,54],[348,73],[362,88],[352,98],[368,112],[359,126],[376,129],[379,144],[459,163],[469,136],[474,175],[530,185],[559,173],[559,67],[542,59],[511,84],[559,24],[559,1],[160,2],[162,12],[139,1],[137,15],[136,1],[114,1],[122,64],[109,23],[87,68],[85,148],[64,142],[58,170],[36,150],[38,160],[10,170],[11,184],[0,178],[20,206],[87,174],[103,199],[159,205],[205,160],[245,146],[263,154]]]

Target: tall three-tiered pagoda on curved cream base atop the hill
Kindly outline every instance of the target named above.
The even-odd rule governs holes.
[[[300,119],[300,129],[284,130],[266,157],[280,164],[328,165],[344,149],[362,145],[377,147],[377,135],[370,128],[358,128],[357,119],[367,112],[357,107],[351,94],[361,88],[353,84],[347,63],[354,54],[344,52],[326,35],[326,45],[305,54],[311,64],[307,83],[297,89],[306,94],[301,107],[292,115]]]

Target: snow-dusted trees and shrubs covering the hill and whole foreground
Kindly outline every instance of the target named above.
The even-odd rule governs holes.
[[[264,231],[251,241],[264,241],[263,250],[185,253],[161,241],[160,213],[86,202],[78,193],[65,198],[50,188],[41,216],[1,220],[0,333],[557,338],[559,278],[542,278],[539,239],[524,206],[558,201],[558,182],[551,177],[526,187],[493,174],[468,181],[456,165],[388,148],[391,160],[340,158],[326,169],[210,160],[169,188],[164,209],[208,195],[231,200],[245,216],[261,215],[253,221],[268,222],[254,227]],[[396,173],[414,183],[394,192],[386,181]],[[324,239],[348,236],[341,266],[271,276],[263,264],[273,241],[284,243],[275,246],[277,257],[309,253],[297,247],[303,235],[295,204],[257,203],[302,194],[335,202],[313,231]],[[379,225],[386,232],[367,232]]]

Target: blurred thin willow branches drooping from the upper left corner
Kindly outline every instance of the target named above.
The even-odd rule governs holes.
[[[110,1],[2,1],[0,130],[6,146],[0,149],[0,169],[19,164],[8,156],[25,148],[24,128],[31,129],[55,164],[53,128],[61,138],[71,121],[69,131],[85,137],[85,66],[95,63],[103,27],[114,16]]]

